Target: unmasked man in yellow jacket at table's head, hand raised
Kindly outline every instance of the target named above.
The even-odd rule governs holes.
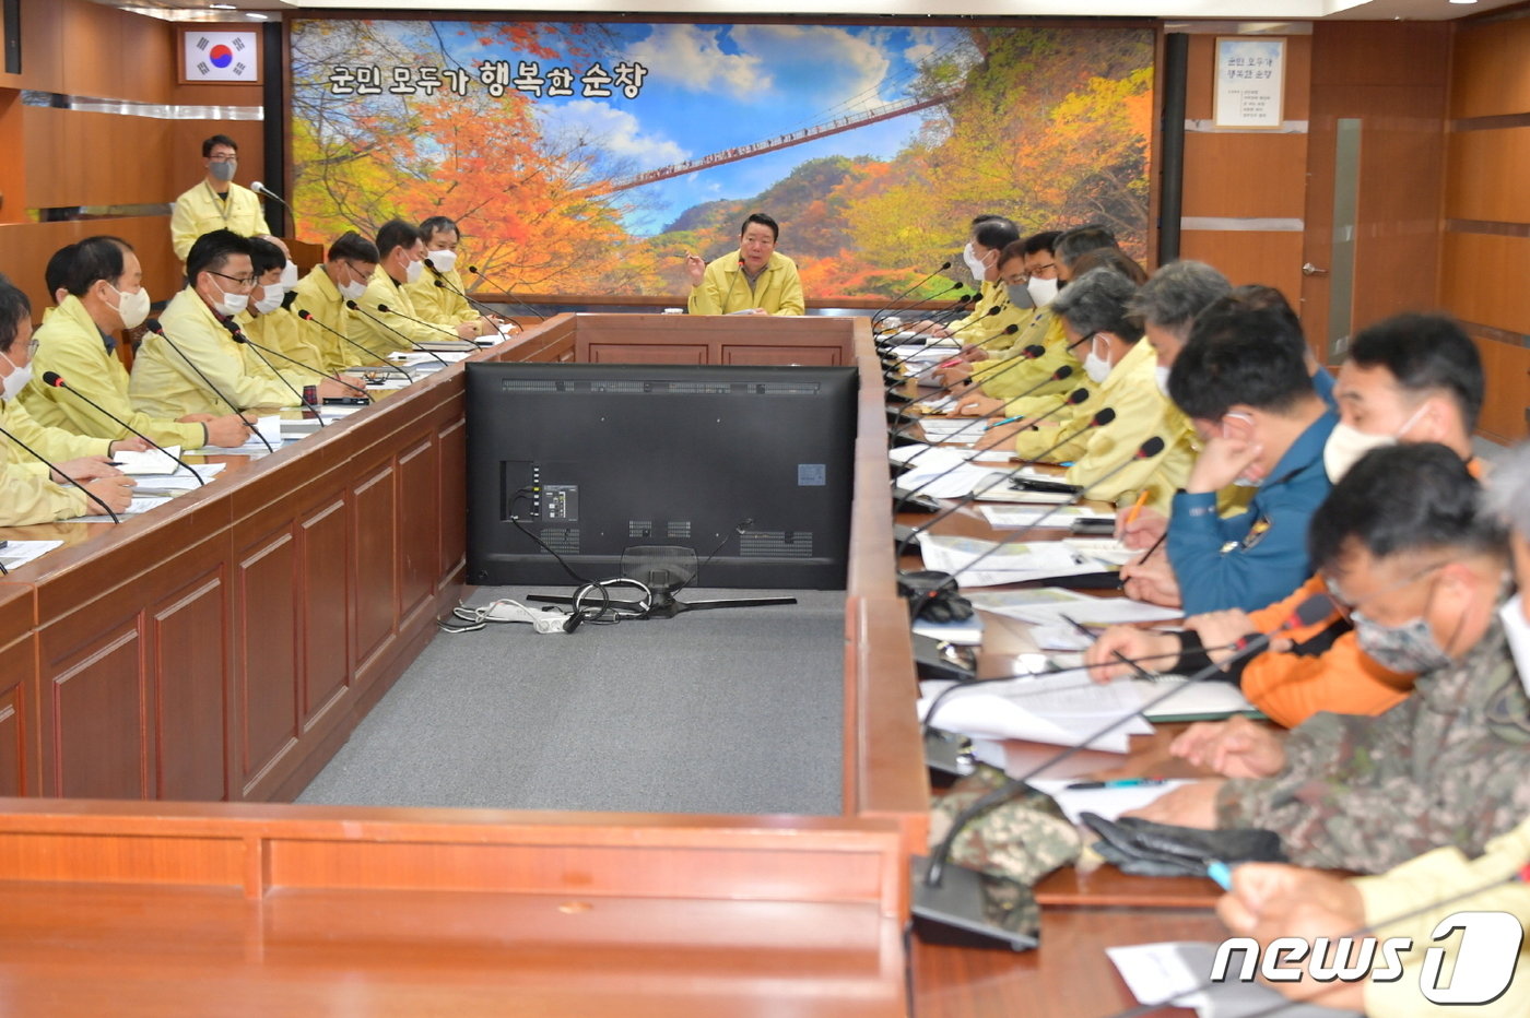
[[[685,255],[692,315],[802,315],[797,263],[776,251],[780,226],[763,212],[744,220],[739,249],[715,258]]]

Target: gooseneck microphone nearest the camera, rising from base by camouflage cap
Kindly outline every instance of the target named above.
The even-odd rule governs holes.
[[[973,870],[959,865],[950,865],[952,847],[956,844],[956,838],[961,836],[962,830],[967,828],[975,819],[1004,806],[1007,801],[1019,795],[1027,783],[1037,775],[1047,772],[1048,769],[1057,766],[1063,760],[1068,760],[1079,751],[1092,744],[1099,738],[1109,735],[1121,725],[1126,725],[1132,718],[1144,715],[1152,708],[1158,706],[1172,695],[1189,689],[1198,683],[1206,682],[1216,673],[1222,671],[1227,665],[1235,663],[1242,657],[1252,657],[1270,645],[1276,636],[1290,628],[1297,628],[1304,625],[1316,625],[1322,622],[1333,613],[1333,599],[1328,595],[1313,595],[1302,604],[1296,605],[1296,610],[1278,627],[1268,633],[1261,633],[1259,636],[1248,640],[1248,644],[1239,650],[1236,654],[1229,657],[1221,665],[1209,665],[1193,676],[1189,676],[1184,683],[1174,685],[1163,694],[1152,697],[1143,703],[1135,711],[1128,711],[1120,717],[1114,718],[1109,725],[1100,728],[1097,732],[1079,740],[1077,744],[1068,746],[1059,754],[1054,754],[1050,760],[1043,761],[1040,766],[1033,767],[1019,778],[1010,778],[1002,786],[988,792],[982,798],[976,799],[965,810],[958,813],[946,832],[946,838],[930,851],[929,858],[915,858],[915,882],[913,882],[913,914],[918,919],[927,922],[936,922],[946,926],[956,926],[968,932],[978,932],[987,937],[996,937],[1001,940],[1008,940],[1014,946],[1033,946],[1034,942],[1027,939],[1024,943],[1017,943],[1014,934],[991,925],[984,913],[982,905],[982,876]],[[973,909],[978,905],[978,909]]]

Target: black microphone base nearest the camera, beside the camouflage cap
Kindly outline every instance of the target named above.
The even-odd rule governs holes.
[[[1031,951],[1040,908],[1028,887],[947,862],[938,887],[924,882],[929,858],[913,856],[913,934],[924,943]]]

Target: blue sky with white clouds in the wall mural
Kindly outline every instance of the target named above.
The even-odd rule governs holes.
[[[467,28],[467,26],[464,26]],[[918,63],[930,55],[973,57],[968,37],[950,28],[815,24],[612,24],[612,41],[597,60],[607,72],[618,63],[643,64],[647,75],[635,99],[583,98],[575,76],[572,98],[537,99],[549,136],[583,133],[630,171],[748,145],[848,113],[906,98]],[[445,34],[465,66],[506,60],[549,69],[568,64],[583,75],[589,60],[548,60],[505,46],[482,46],[476,32]],[[722,127],[719,127],[722,125]],[[910,113],[831,135],[741,162],[649,183],[629,191],[640,208],[627,217],[638,234],[662,229],[699,202],[757,194],[799,164],[822,156],[892,157],[920,127]]]

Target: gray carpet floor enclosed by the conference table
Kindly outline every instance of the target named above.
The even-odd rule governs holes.
[[[297,801],[838,813],[845,593],[681,599],[754,595],[800,604],[441,633]]]

